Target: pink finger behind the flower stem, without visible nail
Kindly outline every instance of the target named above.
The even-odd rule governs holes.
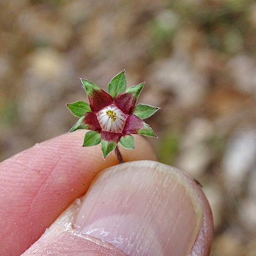
[[[84,131],[37,144],[0,163],[0,254],[19,255],[36,241],[94,177],[117,164],[105,160],[100,145],[82,147]],[[135,150],[122,150],[125,161],[155,159],[152,148],[136,137]]]

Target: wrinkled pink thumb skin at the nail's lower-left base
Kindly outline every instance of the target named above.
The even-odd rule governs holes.
[[[100,239],[80,235],[72,228],[81,200],[72,203],[51,225],[49,229],[21,256],[35,255],[126,255],[113,245]]]

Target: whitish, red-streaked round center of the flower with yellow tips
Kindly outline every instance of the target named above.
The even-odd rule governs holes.
[[[127,115],[112,104],[100,110],[97,117],[103,131],[119,133],[123,130]]]

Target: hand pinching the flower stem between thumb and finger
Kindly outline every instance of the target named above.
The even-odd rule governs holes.
[[[81,148],[83,135],[62,135],[0,163],[0,255],[23,253],[91,184],[24,256],[209,254],[211,211],[191,178],[155,161],[115,165],[100,146]],[[133,151],[120,148],[124,161],[156,160],[143,138],[135,141]]]

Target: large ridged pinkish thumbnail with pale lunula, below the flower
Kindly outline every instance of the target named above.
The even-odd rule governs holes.
[[[187,255],[203,219],[179,170],[154,161],[104,170],[84,197],[73,227],[129,255]]]

